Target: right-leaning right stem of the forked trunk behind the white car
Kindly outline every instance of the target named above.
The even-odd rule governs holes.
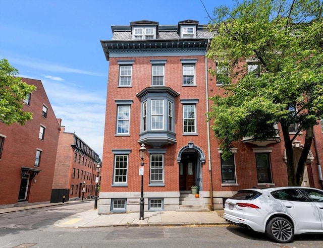
[[[312,145],[312,140],[313,140],[313,127],[309,127],[306,129],[305,144],[297,165],[297,172],[296,172],[297,186],[300,186],[303,182],[304,168],[306,165],[308,152]]]

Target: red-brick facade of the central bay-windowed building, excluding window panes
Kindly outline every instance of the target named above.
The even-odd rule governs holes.
[[[136,25],[139,29],[155,27],[154,40],[134,40]],[[194,31],[196,36],[182,39],[181,25],[196,28]],[[151,199],[161,200],[163,203],[161,210],[167,211],[179,208],[181,194],[188,191],[187,184],[185,189],[181,188],[183,187],[183,184],[181,184],[183,183],[181,181],[181,178],[183,178],[181,177],[182,166],[189,166],[188,161],[190,159],[193,159],[193,171],[195,170],[193,183],[199,186],[200,198],[204,206],[209,209],[222,209],[224,199],[232,196],[237,190],[265,187],[267,183],[259,182],[257,178],[255,161],[255,154],[257,153],[268,154],[270,158],[271,179],[268,183],[271,187],[287,185],[287,171],[284,161],[285,147],[284,142],[279,137],[274,142],[268,142],[265,147],[244,141],[233,144],[236,148],[234,153],[235,181],[227,183],[223,180],[219,144],[206,122],[205,115],[212,104],[211,101],[207,100],[208,97],[223,91],[217,85],[216,77],[207,72],[209,68],[214,69],[216,65],[214,61],[205,57],[209,40],[213,35],[208,32],[206,25],[197,25],[192,20],[167,26],[160,26],[158,23],[156,25],[155,22],[141,21],[131,23],[129,26],[113,26],[112,30],[112,40],[101,40],[104,54],[106,59],[109,60],[109,84],[105,113],[99,214],[139,211],[141,176],[138,171],[141,162],[139,159],[141,144],[145,144],[147,148],[143,175],[145,211],[150,210]],[[192,85],[183,84],[184,63],[194,65],[195,82]],[[160,89],[158,89],[159,86],[152,85],[152,65],[154,64],[164,65],[164,84],[161,85]],[[131,85],[127,87],[120,85],[120,68],[123,65],[131,66],[132,69]],[[142,126],[143,99],[146,95],[148,95],[148,101],[151,99],[166,99],[164,98],[167,94],[165,91],[171,91],[168,88],[178,94],[174,96],[173,112],[176,142],[170,141],[169,137],[172,136],[172,132],[152,132],[149,128],[146,132]],[[160,91],[159,95],[158,90]],[[196,132],[184,134],[183,105],[192,102],[196,107]],[[126,135],[120,135],[116,132],[118,128],[118,106],[120,104],[130,105],[129,134]],[[167,115],[166,112],[164,114]],[[167,122],[166,118],[164,118],[164,121]],[[147,125],[150,125],[150,123]],[[164,133],[167,133],[167,138],[163,136]],[[322,154],[323,135],[318,125],[315,127],[315,135],[318,153]],[[300,144],[303,143],[303,138],[304,136],[299,137]],[[164,139],[168,139],[169,143],[165,142]],[[158,141],[161,146],[156,145]],[[297,148],[295,144],[295,149],[301,148]],[[313,157],[308,159],[307,184],[320,188],[314,145],[311,152]],[[116,181],[119,179],[116,175],[115,159],[120,154],[126,155],[128,159],[127,179],[124,179],[123,184]],[[164,158],[163,181],[160,183],[150,182],[150,156],[153,154],[163,154]],[[189,170],[189,167],[185,167],[184,170]],[[185,177],[184,183],[188,182],[188,178],[189,176]],[[118,205],[119,200],[122,203],[121,207]]]

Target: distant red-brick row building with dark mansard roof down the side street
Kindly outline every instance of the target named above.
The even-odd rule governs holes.
[[[62,120],[59,119],[61,125]],[[51,202],[60,202],[95,196],[96,165],[101,160],[83,140],[74,133],[66,133],[61,126]],[[84,190],[83,190],[84,189]]]

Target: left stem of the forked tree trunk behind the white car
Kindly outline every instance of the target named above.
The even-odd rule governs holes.
[[[294,164],[294,153],[292,147],[292,141],[289,137],[288,126],[281,124],[282,126],[282,133],[284,136],[284,145],[286,149],[286,168],[287,168],[287,176],[288,176],[288,186],[295,186],[296,185],[296,170]]]

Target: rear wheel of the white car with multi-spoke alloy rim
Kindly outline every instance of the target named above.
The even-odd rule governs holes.
[[[266,234],[276,242],[288,243],[294,237],[294,227],[289,220],[275,217],[268,222]]]

